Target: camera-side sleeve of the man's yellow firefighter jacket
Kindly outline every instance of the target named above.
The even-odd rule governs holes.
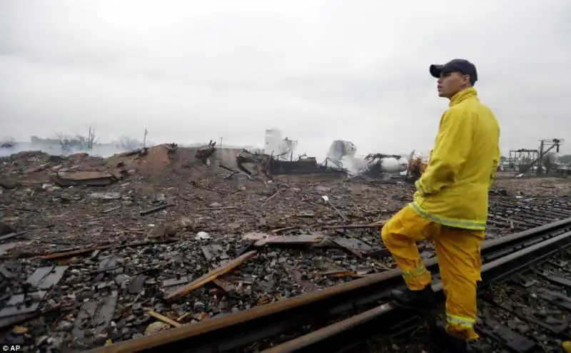
[[[440,119],[435,148],[425,173],[415,183],[424,195],[434,195],[454,183],[472,146],[471,119],[464,111],[450,109]]]

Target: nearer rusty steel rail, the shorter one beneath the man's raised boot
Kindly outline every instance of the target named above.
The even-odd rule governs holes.
[[[571,245],[571,231],[526,247],[510,255],[505,255],[492,262],[487,262],[482,265],[482,280],[499,280],[502,277],[506,277],[520,270],[522,267],[529,267],[532,263],[543,260],[553,253],[559,252],[562,247],[569,245]],[[443,299],[442,282],[433,285],[433,289],[440,295],[440,299]],[[404,315],[406,315],[405,312],[410,314],[410,310],[400,309],[394,302],[388,302],[366,312],[361,312],[353,317],[349,317],[348,319],[344,319],[343,321],[335,322],[334,324],[317,329],[309,334],[279,344],[276,347],[263,350],[262,353],[323,352],[323,342],[327,339],[344,332],[356,331],[365,324],[370,324],[373,320],[379,320],[381,317],[397,311],[400,311],[400,314]],[[401,319],[406,319],[406,317]],[[383,322],[387,322],[387,320],[383,319]],[[350,334],[350,337],[351,340],[348,341],[348,334],[344,334],[343,338],[339,337],[335,342],[327,342],[327,352],[339,352],[339,347],[347,347],[347,342],[355,344],[355,335]],[[345,342],[345,344],[343,344],[343,342]],[[318,345],[320,347],[319,350],[317,350]],[[337,349],[335,349],[335,347],[337,347]]]

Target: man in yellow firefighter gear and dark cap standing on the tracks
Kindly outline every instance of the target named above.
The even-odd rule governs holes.
[[[435,308],[436,300],[416,242],[433,240],[447,319],[433,325],[432,343],[458,353],[478,337],[476,283],[481,280],[487,193],[500,160],[500,127],[477,98],[473,63],[454,59],[431,65],[430,74],[438,78],[438,96],[448,98],[450,105],[440,118],[428,167],[415,182],[413,202],[385,224],[381,235],[407,285],[392,292],[395,304],[425,312]]]

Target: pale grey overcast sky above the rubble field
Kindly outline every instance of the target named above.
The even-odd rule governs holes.
[[[430,150],[467,58],[502,151],[571,132],[571,1],[0,1],[0,135]],[[570,145],[564,150],[571,152]],[[300,151],[303,152],[303,151]]]

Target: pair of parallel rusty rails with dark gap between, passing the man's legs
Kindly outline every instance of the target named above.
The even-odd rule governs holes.
[[[482,247],[483,283],[502,283],[506,276],[521,272],[522,265],[565,252],[570,244],[571,218],[488,240]],[[441,293],[436,260],[427,260],[425,265],[435,274],[433,285]],[[402,286],[400,271],[389,270],[91,352],[355,352],[347,350],[355,349],[347,342],[363,343],[422,322],[390,302],[390,290]]]

